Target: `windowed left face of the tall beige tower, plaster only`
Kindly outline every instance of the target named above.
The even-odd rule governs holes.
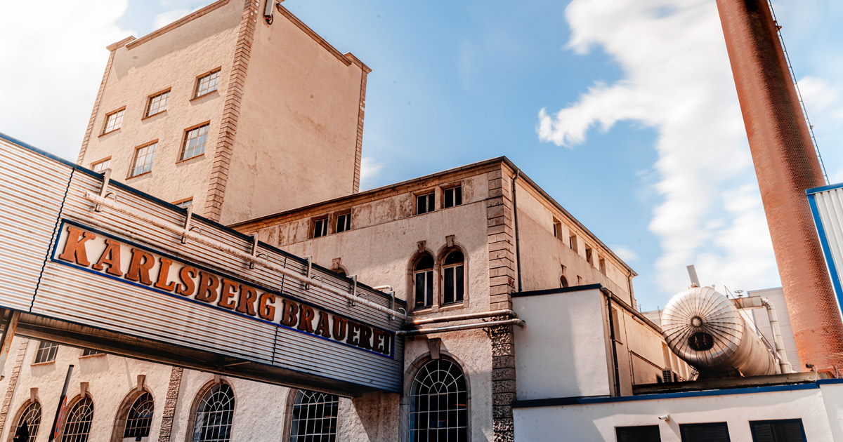
[[[242,10],[243,2],[232,0],[132,49],[117,49],[80,163],[90,168],[111,157],[112,178],[169,202],[193,198],[204,208]],[[217,91],[192,99],[196,76],[217,67]],[[167,110],[142,120],[148,96],[166,88],[172,88]],[[123,106],[121,129],[100,136],[105,115]],[[184,130],[208,120],[204,155],[178,162]],[[152,172],[127,178],[135,147],[156,139]]]

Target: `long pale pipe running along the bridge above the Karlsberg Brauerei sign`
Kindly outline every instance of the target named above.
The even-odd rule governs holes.
[[[359,296],[357,296],[357,281],[355,281],[355,283],[354,283],[354,287],[355,287],[355,290],[353,290],[354,293],[349,294],[349,293],[346,293],[346,292],[341,291],[341,290],[336,290],[335,288],[330,287],[330,285],[325,285],[325,283],[319,282],[317,280],[309,280],[307,278],[307,276],[305,276],[303,274],[298,274],[297,272],[295,272],[293,270],[287,269],[287,268],[282,267],[282,266],[277,265],[277,264],[271,264],[269,262],[269,259],[261,258],[260,255],[252,256],[251,253],[245,253],[245,252],[240,251],[236,248],[232,248],[232,247],[228,246],[228,244],[224,244],[223,242],[218,242],[218,241],[213,240],[211,238],[203,237],[203,236],[201,236],[197,233],[194,233],[193,231],[191,231],[189,229],[185,230],[182,226],[174,226],[169,222],[159,221],[159,220],[157,220],[155,218],[152,218],[150,216],[143,215],[141,213],[136,212],[135,210],[132,210],[132,209],[129,209],[129,208],[123,206],[123,205],[117,204],[113,200],[103,198],[103,197],[101,197],[97,194],[93,194],[91,192],[86,192],[85,193],[85,199],[94,201],[94,203],[97,203],[98,205],[105,205],[106,207],[114,209],[114,210],[116,210],[118,212],[121,212],[123,214],[126,214],[128,216],[132,216],[132,217],[134,217],[138,220],[146,221],[146,222],[152,224],[153,226],[158,226],[158,227],[160,227],[160,228],[162,228],[162,229],[164,229],[168,232],[173,232],[173,233],[178,234],[178,235],[183,235],[185,237],[189,237],[193,241],[201,242],[201,243],[207,245],[208,247],[216,248],[217,250],[222,251],[224,253],[230,253],[230,254],[238,257],[238,258],[242,258],[244,261],[246,261],[248,263],[260,264],[260,265],[266,267],[267,269],[271,269],[271,270],[276,271],[280,274],[287,275],[290,278],[292,278],[293,280],[297,280],[297,281],[299,281],[303,284],[315,285],[316,287],[319,287],[322,290],[329,291],[330,293],[333,293],[335,295],[342,296],[349,301],[360,303],[364,306],[368,306],[369,308],[373,308],[373,309],[375,309],[379,312],[384,312],[384,313],[387,313],[387,314],[395,316],[395,317],[400,317],[401,319],[404,319],[405,321],[411,321],[410,316],[407,316],[407,315],[399,313],[399,312],[395,312],[395,310],[391,310],[388,307],[380,306],[379,304],[375,304],[372,301],[361,299]]]

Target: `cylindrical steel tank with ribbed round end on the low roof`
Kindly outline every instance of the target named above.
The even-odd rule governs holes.
[[[776,360],[734,302],[711,287],[691,287],[670,299],[662,332],[673,352],[701,375],[775,375]]]

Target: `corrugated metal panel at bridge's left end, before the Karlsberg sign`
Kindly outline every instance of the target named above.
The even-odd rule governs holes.
[[[0,138],[0,290],[29,311],[72,169]]]

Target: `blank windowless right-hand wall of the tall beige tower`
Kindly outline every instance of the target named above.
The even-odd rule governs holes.
[[[358,114],[369,69],[292,14],[275,15],[271,25],[262,19],[255,25],[223,224],[355,191]]]

